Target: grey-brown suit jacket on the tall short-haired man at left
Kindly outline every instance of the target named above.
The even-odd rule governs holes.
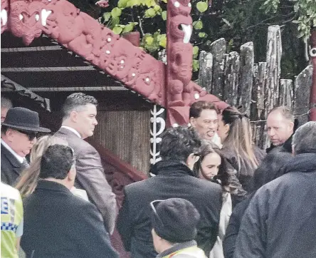
[[[107,232],[112,234],[115,227],[117,205],[102,167],[100,155],[92,145],[78,138],[72,131],[60,128],[55,136],[64,138],[75,150],[75,187],[87,192],[89,200],[100,210]]]

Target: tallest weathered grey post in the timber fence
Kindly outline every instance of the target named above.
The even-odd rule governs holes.
[[[270,103],[267,103],[266,108],[272,109],[278,103],[279,82],[281,74],[281,56],[282,43],[280,26],[268,27],[268,42],[267,42],[267,81],[265,89]]]

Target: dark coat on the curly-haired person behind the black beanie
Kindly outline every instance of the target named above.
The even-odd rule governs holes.
[[[125,200],[117,220],[125,249],[132,257],[156,257],[152,244],[150,202],[178,197],[189,200],[200,212],[196,242],[209,254],[218,233],[221,186],[190,175],[191,170],[180,162],[160,161],[154,165],[154,170],[156,177],[125,187]]]

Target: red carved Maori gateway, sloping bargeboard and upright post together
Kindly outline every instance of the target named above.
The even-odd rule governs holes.
[[[65,0],[1,0],[1,33],[11,31],[29,45],[42,33],[121,81],[127,88],[167,108],[167,121],[188,122],[198,99],[226,106],[191,81],[191,3],[168,3],[168,65],[133,46]]]

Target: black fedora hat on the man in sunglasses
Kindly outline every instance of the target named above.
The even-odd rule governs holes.
[[[38,113],[27,108],[10,108],[1,125],[17,130],[50,133],[51,130],[39,126]]]

